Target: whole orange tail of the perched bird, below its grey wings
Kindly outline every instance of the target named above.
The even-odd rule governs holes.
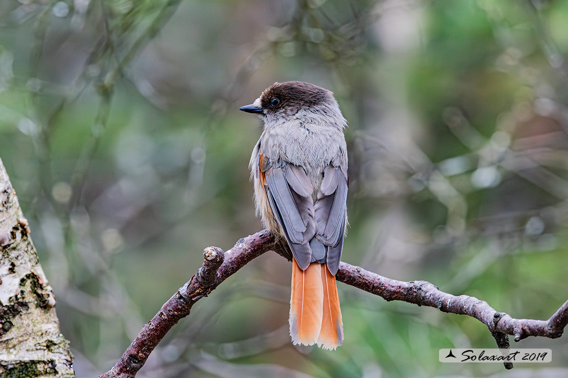
[[[302,270],[292,261],[290,335],[295,345],[318,343],[325,349],[336,349],[343,342],[335,276],[325,264],[312,262]]]

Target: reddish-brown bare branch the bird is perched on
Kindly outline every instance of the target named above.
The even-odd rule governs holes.
[[[274,238],[268,230],[240,239],[235,247],[225,253],[217,247],[206,248],[203,266],[144,325],[122,358],[100,378],[136,376],[152,350],[179,319],[189,315],[196,301],[207,296],[253,258],[271,249],[284,256],[281,248],[274,244]],[[345,262],[339,265],[336,278],[337,281],[381,296],[387,301],[402,300],[419,306],[435,307],[442,312],[474,317],[487,326],[500,348],[509,347],[507,335],[514,335],[515,341],[528,336],[557,338],[568,324],[568,301],[549,320],[516,319],[504,312],[495,311],[486,301],[473,296],[448,294],[427,281],[397,281]],[[512,368],[512,364],[505,364],[505,367]]]

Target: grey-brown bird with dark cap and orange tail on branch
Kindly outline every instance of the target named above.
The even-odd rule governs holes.
[[[257,215],[292,261],[292,342],[335,350],[344,338],[335,275],[348,224],[347,121],[333,92],[299,81],[276,82],[240,110],[262,121],[249,169]]]

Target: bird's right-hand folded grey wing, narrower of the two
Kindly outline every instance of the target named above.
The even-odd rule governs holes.
[[[315,236],[327,248],[325,262],[332,275],[337,273],[343,250],[347,187],[346,169],[328,165],[314,206],[317,225]]]

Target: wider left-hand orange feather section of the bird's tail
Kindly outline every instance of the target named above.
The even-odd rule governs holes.
[[[290,336],[295,345],[318,342],[323,318],[321,264],[312,262],[306,270],[292,260],[292,295],[290,298]]]

